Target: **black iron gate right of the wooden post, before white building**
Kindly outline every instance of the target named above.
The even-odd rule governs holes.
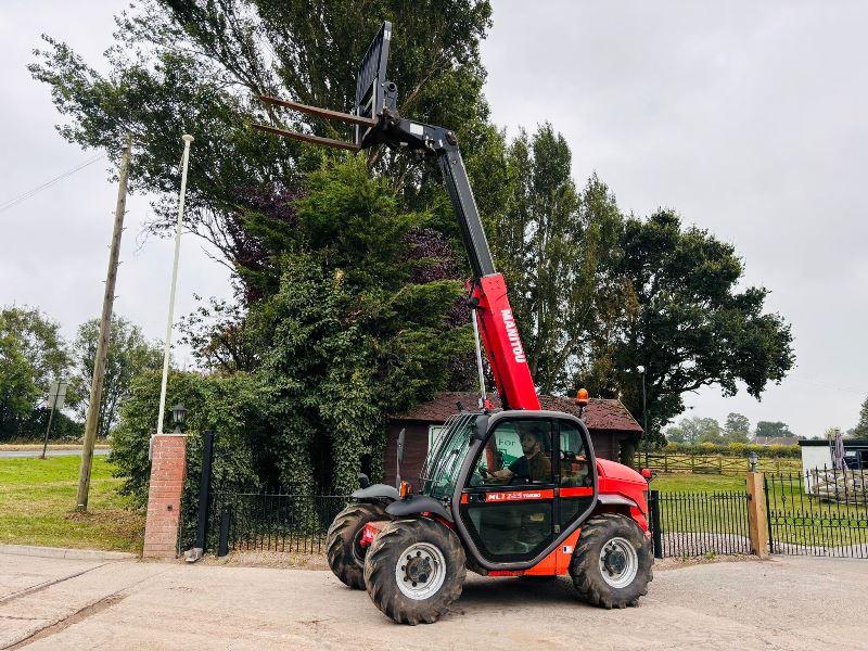
[[[771,553],[868,558],[868,473],[822,468],[765,476]]]

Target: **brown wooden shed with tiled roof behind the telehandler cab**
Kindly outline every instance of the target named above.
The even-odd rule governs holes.
[[[431,443],[446,419],[457,413],[460,403],[465,408],[475,407],[478,394],[472,392],[443,392],[430,403],[417,405],[407,413],[394,416],[388,424],[388,442],[384,454],[384,480],[386,484],[395,483],[395,465],[397,458],[398,433],[404,429],[404,463],[401,476],[417,483],[422,464]],[[495,407],[500,404],[492,396]],[[539,396],[542,409],[565,411],[578,416],[578,406],[572,398]],[[621,443],[641,434],[642,427],[636,422],[627,408],[616,399],[591,398],[584,414],[585,424],[590,433],[593,451],[603,459],[618,460]]]

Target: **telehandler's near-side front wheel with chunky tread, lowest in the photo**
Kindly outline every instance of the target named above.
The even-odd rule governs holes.
[[[429,551],[411,553],[409,561],[403,558],[414,546]],[[439,559],[433,549],[437,550]],[[405,572],[404,588],[396,576],[400,571]],[[458,536],[426,518],[391,522],[374,538],[365,558],[365,583],[371,601],[398,624],[411,626],[433,624],[446,614],[452,601],[461,596],[467,573],[464,549]],[[420,580],[417,583],[413,578]],[[405,591],[425,590],[425,584],[429,584],[427,589],[436,588],[436,591],[417,597]]]

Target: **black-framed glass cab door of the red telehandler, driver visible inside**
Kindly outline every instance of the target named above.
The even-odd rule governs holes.
[[[508,419],[481,449],[459,513],[486,560],[527,561],[554,539],[557,433],[553,419]]]

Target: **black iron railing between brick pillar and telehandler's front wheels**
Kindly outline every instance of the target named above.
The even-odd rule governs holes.
[[[349,498],[280,492],[214,493],[208,549],[324,553],[326,534]]]

